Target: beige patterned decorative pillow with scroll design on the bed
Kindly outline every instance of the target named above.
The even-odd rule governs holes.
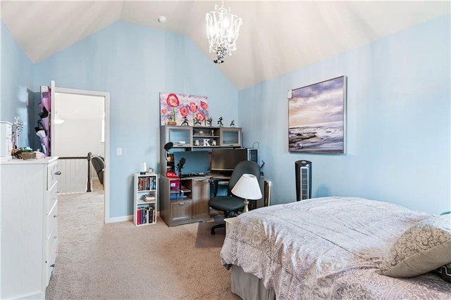
[[[451,214],[422,220],[404,232],[388,252],[381,273],[414,277],[451,261]]]

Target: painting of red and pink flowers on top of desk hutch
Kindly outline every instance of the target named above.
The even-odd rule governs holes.
[[[160,124],[207,126],[206,96],[160,92]]]

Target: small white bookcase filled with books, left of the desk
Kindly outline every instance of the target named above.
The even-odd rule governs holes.
[[[136,226],[156,224],[157,191],[156,174],[133,175],[133,223]]]

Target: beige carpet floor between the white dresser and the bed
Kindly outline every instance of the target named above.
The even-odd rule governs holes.
[[[58,196],[56,275],[47,299],[240,299],[230,292],[221,248],[194,246],[197,223],[104,224],[103,211],[99,188]]]

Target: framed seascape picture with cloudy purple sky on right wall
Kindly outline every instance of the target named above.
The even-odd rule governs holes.
[[[288,151],[345,153],[346,76],[288,91]]]

